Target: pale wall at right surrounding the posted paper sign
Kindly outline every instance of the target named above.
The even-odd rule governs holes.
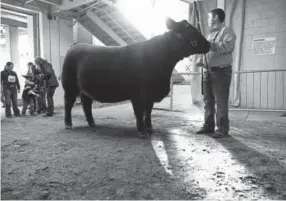
[[[285,10],[285,0],[246,0],[242,70],[286,69]],[[252,40],[264,37],[276,38],[275,54],[253,55]],[[241,77],[242,106],[286,109],[285,77],[286,72],[244,74]]]

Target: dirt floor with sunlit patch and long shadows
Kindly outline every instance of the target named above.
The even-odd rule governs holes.
[[[2,110],[3,111],[3,110]],[[196,135],[199,110],[155,110],[151,139],[136,136],[130,104],[81,106],[73,130],[52,118],[1,117],[2,199],[286,199],[286,117],[231,112],[231,137]]]

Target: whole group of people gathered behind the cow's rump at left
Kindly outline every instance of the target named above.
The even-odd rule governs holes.
[[[28,107],[31,115],[46,113],[46,117],[53,116],[53,96],[59,84],[52,65],[40,57],[35,59],[35,65],[32,62],[28,63],[28,72],[26,75],[22,75],[26,79],[22,93],[22,112],[18,109],[17,100],[17,93],[20,92],[20,83],[13,68],[14,64],[7,62],[4,70],[1,72],[1,101],[5,107],[6,117],[12,117],[11,103],[14,116],[26,115]]]

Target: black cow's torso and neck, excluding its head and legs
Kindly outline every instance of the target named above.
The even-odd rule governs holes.
[[[168,35],[123,47],[76,44],[66,54],[62,83],[65,91],[81,91],[100,102],[117,102],[146,91],[161,101],[170,91],[172,70]]]

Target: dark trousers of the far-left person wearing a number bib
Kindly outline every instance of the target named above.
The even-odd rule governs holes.
[[[3,86],[3,92],[5,96],[5,114],[6,116],[11,116],[11,102],[13,107],[13,112],[15,116],[20,114],[17,102],[17,88],[16,86]]]

